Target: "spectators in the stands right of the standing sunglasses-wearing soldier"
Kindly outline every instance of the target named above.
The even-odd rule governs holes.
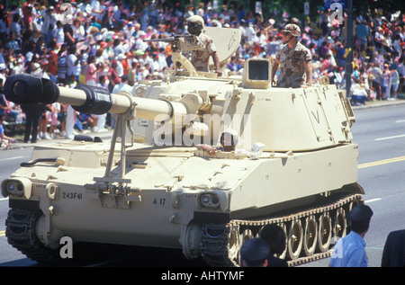
[[[322,9],[321,9],[322,10]],[[314,79],[327,75],[331,83],[346,89],[346,27],[337,20],[326,22],[330,12],[320,11],[321,33],[302,40],[313,50]],[[305,29],[308,29],[306,26]],[[357,16],[354,21],[354,49],[350,94],[352,103],[402,98],[404,82],[405,16],[382,9]],[[318,41],[316,39],[319,39]],[[316,47],[319,47],[318,49]],[[313,49],[314,48],[314,49]]]

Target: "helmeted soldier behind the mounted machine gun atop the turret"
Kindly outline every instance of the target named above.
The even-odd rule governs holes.
[[[220,71],[220,58],[218,58],[217,49],[208,35],[204,34],[204,20],[201,16],[193,15],[187,19],[188,32],[197,37],[195,46],[199,49],[192,50],[191,62],[197,71],[210,71],[208,68],[208,61],[210,57],[215,65],[215,72],[221,76]]]

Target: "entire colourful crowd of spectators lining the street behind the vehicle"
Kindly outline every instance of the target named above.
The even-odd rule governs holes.
[[[100,85],[111,92],[139,80],[163,78],[165,70],[173,68],[171,46],[144,40],[186,32],[184,19],[193,14],[201,15],[207,26],[241,31],[240,47],[229,58],[225,76],[240,74],[247,58],[275,58],[282,46],[282,28],[287,22],[295,22],[302,27],[302,43],[311,50],[313,81],[328,76],[330,83],[346,88],[350,50],[345,48],[345,19],[330,21],[330,12],[323,7],[316,19],[300,21],[284,13],[276,22],[233,4],[214,9],[211,4],[193,6],[193,1],[185,7],[159,0],[145,4],[119,0],[67,3],[71,4],[68,8],[62,0],[29,0],[21,7],[0,7],[0,88],[7,76],[19,73],[43,76],[61,86]],[[354,36],[349,94],[353,103],[399,97],[405,76],[404,14],[369,11],[356,17]],[[66,135],[67,107],[47,106],[40,120],[40,138],[51,138],[52,132],[58,132],[57,121]],[[0,111],[7,120],[24,120],[24,112],[12,102]],[[77,115],[77,119],[83,117],[78,123],[104,129],[105,118]]]

